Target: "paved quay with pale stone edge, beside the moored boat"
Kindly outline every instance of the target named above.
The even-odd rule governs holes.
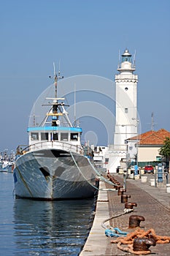
[[[123,184],[122,175],[114,173],[113,176]],[[129,217],[135,214],[144,217],[145,220],[140,222],[140,228],[143,230],[153,228],[158,236],[170,236],[170,193],[166,192],[166,187],[151,187],[151,178],[154,176],[147,175],[147,182],[142,182],[141,178],[126,180],[124,195],[131,195],[128,202],[137,203],[137,206],[131,213],[111,219],[105,225],[118,227],[128,233],[133,232],[135,229],[129,229],[128,222]],[[110,241],[115,238],[105,236],[105,229],[101,226],[104,220],[121,214],[125,208],[125,203],[121,203],[121,196],[117,195],[117,190],[107,191],[110,188],[112,185],[100,181],[95,219],[80,256],[131,255],[117,249],[117,244],[111,244]],[[150,255],[169,256],[170,244],[156,244],[150,246],[150,250]]]

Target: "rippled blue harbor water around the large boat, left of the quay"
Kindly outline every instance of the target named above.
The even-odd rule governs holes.
[[[12,173],[0,173],[0,255],[79,255],[94,200],[16,199]]]

